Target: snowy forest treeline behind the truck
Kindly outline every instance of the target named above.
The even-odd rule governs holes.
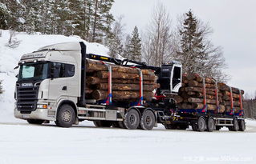
[[[27,34],[78,35],[87,42],[108,46],[109,55],[161,66],[177,60],[184,73],[197,73],[226,81],[221,46],[213,45],[209,23],[189,10],[177,19],[157,3],[144,29],[125,34],[122,17],[111,13],[114,0],[0,0],[0,29]],[[131,11],[132,12],[132,11]],[[10,39],[11,40],[11,39]]]

